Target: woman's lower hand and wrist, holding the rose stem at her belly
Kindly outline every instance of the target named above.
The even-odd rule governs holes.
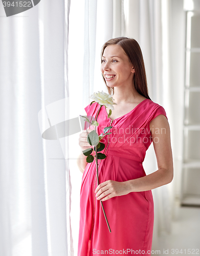
[[[126,181],[118,182],[107,180],[98,185],[95,190],[97,200],[105,201],[112,197],[124,196],[129,193],[128,184]]]

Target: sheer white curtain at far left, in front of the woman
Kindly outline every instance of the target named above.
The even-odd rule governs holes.
[[[68,138],[59,139],[58,132],[54,138],[41,136],[46,128],[56,131],[59,111],[69,119],[69,10],[70,0],[42,0],[6,17],[0,5],[4,256],[73,255]]]

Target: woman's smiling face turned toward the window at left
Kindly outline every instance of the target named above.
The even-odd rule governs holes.
[[[108,87],[132,85],[134,67],[119,45],[109,45],[102,56],[101,72]]]

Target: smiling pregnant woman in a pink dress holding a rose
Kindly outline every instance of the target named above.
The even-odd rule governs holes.
[[[106,155],[96,163],[86,162],[82,151],[90,147],[87,129],[80,134],[81,154],[77,160],[83,173],[80,192],[78,256],[94,254],[150,255],[153,233],[151,189],[170,183],[173,161],[170,129],[165,110],[148,96],[142,52],[135,39],[118,37],[102,47],[101,72],[114,110],[103,105],[99,111],[97,133],[113,126],[102,141]],[[91,100],[92,101],[92,100]],[[88,117],[96,117],[100,105],[88,104]],[[85,125],[86,129],[86,125]],[[146,175],[142,162],[153,142],[158,170]],[[100,204],[103,201],[110,233]]]

